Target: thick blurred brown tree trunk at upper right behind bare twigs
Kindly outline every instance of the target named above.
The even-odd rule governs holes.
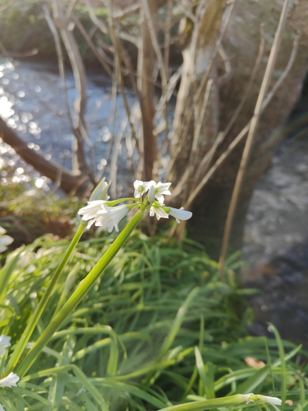
[[[222,61],[216,57],[208,75],[208,78],[212,80],[212,85],[203,117],[200,113],[202,111],[201,106],[205,101],[206,84],[198,101],[194,96],[196,96],[196,92],[200,87],[201,79],[208,70],[210,56],[220,34],[219,27],[224,24],[222,12],[227,13],[227,9],[224,1],[211,0],[204,10],[199,10],[198,21],[201,21],[201,24],[194,23],[189,32],[188,41],[183,48],[183,77],[175,110],[175,137],[172,140],[171,147],[171,159],[173,157],[175,161],[174,164],[172,160],[170,162],[171,168],[168,180],[176,186],[174,190],[176,197],[172,199],[173,205],[183,205],[192,190],[204,177],[205,172],[196,178],[195,171],[198,169],[204,155],[209,153],[217,132],[227,127],[231,116],[242,99],[257,58],[260,42],[259,27],[261,23],[264,23],[266,49],[257,77],[237,121],[223,142],[218,145],[218,150],[211,160],[211,164],[214,164],[253,116],[259,86],[264,75],[266,61],[281,13],[282,3],[277,3],[274,0],[261,0],[258,2],[238,0],[235,3],[227,32],[223,38],[223,50],[229,56],[233,75],[228,82],[223,84],[220,82],[224,68]],[[277,90],[259,122],[253,154],[246,171],[231,233],[231,244],[235,249],[238,249],[242,243],[246,212],[255,184],[259,176],[271,164],[268,150],[274,143],[283,138],[283,133],[277,132],[277,129],[281,129],[287,115],[298,99],[300,87],[307,72],[307,59],[305,58],[307,53],[305,43],[307,44],[308,34],[307,25],[305,25],[307,11],[308,4],[305,0],[298,1],[290,10],[271,86],[287,66],[292,53],[294,36],[296,31],[300,30],[298,53],[289,75]],[[192,22],[189,23],[192,25]],[[207,30],[207,27],[211,27],[211,29]],[[194,105],[194,113],[189,116],[191,105]],[[198,126],[200,120],[202,120],[201,127]],[[195,139],[195,147],[192,149],[193,143],[189,136],[196,136],[198,127],[200,133],[197,136],[198,138]],[[219,255],[224,223],[243,147],[244,140],[233,150],[223,166],[218,168],[216,173],[209,179],[191,207],[193,217],[188,225],[189,234],[193,238],[206,243],[208,251],[214,257]],[[187,170],[187,165],[189,170]],[[185,170],[186,176],[183,178],[183,171]]]

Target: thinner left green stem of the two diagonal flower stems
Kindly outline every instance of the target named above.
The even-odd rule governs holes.
[[[5,367],[5,375],[8,375],[14,370],[14,367],[16,366],[19,358],[21,358],[21,355],[23,353],[23,350],[25,349],[25,346],[27,345],[27,342],[29,341],[29,338],[31,338],[32,332],[34,332],[34,328],[36,327],[36,324],[38,323],[38,320],[40,319],[40,316],[42,315],[42,311],[46,307],[46,304],[49,300],[49,297],[51,296],[51,293],[53,292],[53,289],[55,288],[57,282],[60,279],[61,274],[63,273],[63,270],[72,255],[73,251],[75,250],[75,247],[84,232],[86,225],[81,222],[79,225],[77,232],[73,238],[73,240],[70,242],[70,246],[66,250],[66,253],[60,262],[60,265],[57,267],[57,270],[55,271],[51,282],[47,288],[47,290],[44,293],[44,296],[40,300],[40,303],[38,303],[38,306],[36,307],[36,310],[31,316],[31,319],[23,332],[23,335],[21,336],[21,339],[18,341],[18,344],[16,345],[16,348],[14,349],[14,352],[12,353],[12,356],[10,357],[10,361],[8,362],[7,366]]]

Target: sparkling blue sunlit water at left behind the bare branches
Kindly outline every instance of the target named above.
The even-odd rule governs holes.
[[[42,153],[46,160],[60,158],[60,163],[70,169],[71,145],[75,137],[70,129],[57,66],[2,59],[0,60],[0,77],[0,115],[7,125],[22,134],[23,140],[30,149]],[[107,166],[105,169],[106,177],[108,177],[110,169],[105,160],[105,153],[113,138],[112,132],[107,127],[114,114],[110,104],[111,86],[109,80],[105,79],[101,73],[88,75],[86,121],[88,123],[88,136],[90,142],[95,145],[95,151],[93,157],[93,153],[90,153],[90,146],[86,145],[86,158],[90,168],[96,169],[98,173]],[[67,73],[66,88],[68,103],[70,110],[72,110],[75,99],[75,82],[72,73]],[[129,104],[133,105],[135,99],[132,93],[128,94],[128,100]],[[116,97],[115,115],[114,133],[116,134],[120,127],[120,121],[125,116],[120,96]],[[37,140],[40,140],[39,145]],[[126,155],[123,155],[123,158],[125,157]],[[3,169],[3,167],[8,166],[23,167],[25,164],[18,155],[12,155],[5,149],[5,158],[0,165]],[[122,170],[124,169],[125,162],[123,161]],[[121,173],[121,167],[119,172]],[[123,178],[124,175],[125,171],[123,171]],[[8,175],[3,176],[3,178],[5,179],[3,184],[10,182]],[[24,181],[25,179],[16,175],[14,180],[12,179],[14,184]],[[36,183],[37,187],[41,185],[42,188],[47,189],[48,182],[38,181]]]

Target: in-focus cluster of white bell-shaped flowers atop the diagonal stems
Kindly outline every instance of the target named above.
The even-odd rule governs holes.
[[[157,220],[163,218],[168,219],[169,215],[175,217],[177,223],[180,220],[188,220],[192,216],[190,211],[183,210],[183,207],[179,210],[177,208],[166,207],[164,205],[164,195],[170,195],[169,190],[171,183],[155,183],[142,182],[136,180],[133,183],[134,198],[133,199],[118,199],[115,201],[108,201],[107,190],[110,184],[105,182],[105,179],[97,186],[88,201],[88,206],[79,210],[78,214],[82,216],[84,221],[88,221],[87,228],[90,228],[92,224],[107,229],[108,232],[112,232],[116,229],[118,232],[118,223],[128,214],[131,208],[136,206],[142,206],[143,210],[150,209],[150,216],[157,217]],[[142,196],[146,194],[146,197],[142,201]],[[123,204],[115,206],[120,201],[132,200],[133,204]],[[148,205],[149,203],[149,205]]]

